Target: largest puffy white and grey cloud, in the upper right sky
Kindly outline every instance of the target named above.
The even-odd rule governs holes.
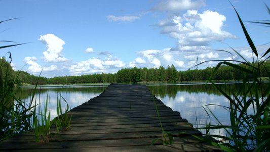
[[[217,12],[187,10],[185,14],[168,13],[167,19],[159,21],[160,33],[169,34],[177,39],[176,47],[171,51],[205,50],[215,41],[236,39],[236,36],[223,30],[226,17]]]

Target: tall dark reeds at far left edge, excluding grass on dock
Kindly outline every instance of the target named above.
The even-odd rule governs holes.
[[[0,21],[0,23],[9,20],[13,19]],[[14,43],[12,41],[1,42]],[[0,46],[0,49],[18,45],[22,44]],[[10,62],[6,61],[4,56],[0,57],[0,141],[29,130],[31,128],[30,120],[33,116],[32,107],[15,97],[13,88],[19,74],[13,75],[13,69],[10,65],[12,61],[11,52],[7,54],[9,54]]]

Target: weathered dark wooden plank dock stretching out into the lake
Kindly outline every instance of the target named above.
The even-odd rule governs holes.
[[[162,129],[152,96],[146,86],[111,84],[84,104],[71,109],[71,128],[60,132],[63,141],[34,142],[33,133],[22,133],[0,142],[4,151],[221,151],[186,132],[202,136],[180,113],[155,101],[165,131],[173,145],[163,145]],[[54,137],[57,138],[57,137]],[[210,139],[210,138],[209,138]]]

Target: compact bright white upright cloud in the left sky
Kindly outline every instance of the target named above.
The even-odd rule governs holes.
[[[44,45],[46,45],[46,51],[43,52],[43,57],[45,62],[64,62],[68,61],[63,54],[63,45],[65,42],[59,37],[55,36],[54,34],[46,34],[46,35],[41,35],[40,39]]]

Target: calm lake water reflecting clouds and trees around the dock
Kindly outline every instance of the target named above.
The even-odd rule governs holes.
[[[230,88],[238,89],[240,82],[229,83]],[[217,83],[221,88],[225,88],[223,83]],[[61,96],[67,101],[69,108],[74,108],[84,102],[89,101],[101,94],[109,84],[95,85],[64,85],[64,86],[38,86],[35,99],[40,101],[41,108],[44,107],[47,95],[51,109],[51,118],[57,116],[57,97]],[[135,85],[135,84],[134,84]],[[137,85],[137,84],[136,84]],[[161,84],[140,84],[146,85],[153,95],[161,99],[164,104],[174,111],[179,111],[182,118],[187,119],[192,124],[203,124],[211,119],[211,124],[215,124],[213,117],[209,118],[207,112],[202,107],[207,104],[229,106],[228,100],[221,95],[211,84],[205,83],[161,83]],[[17,89],[17,96],[21,95],[25,101],[31,100],[33,86],[21,87]],[[61,99],[63,110],[67,108],[66,103]],[[209,105],[212,112],[223,125],[229,124],[229,113],[221,106]],[[207,109],[206,107],[206,109]],[[198,125],[194,125],[195,128]],[[199,126],[200,127],[200,126]],[[204,132],[204,131],[202,131]],[[212,132],[213,133],[213,132]],[[225,133],[218,131],[216,134]]]

